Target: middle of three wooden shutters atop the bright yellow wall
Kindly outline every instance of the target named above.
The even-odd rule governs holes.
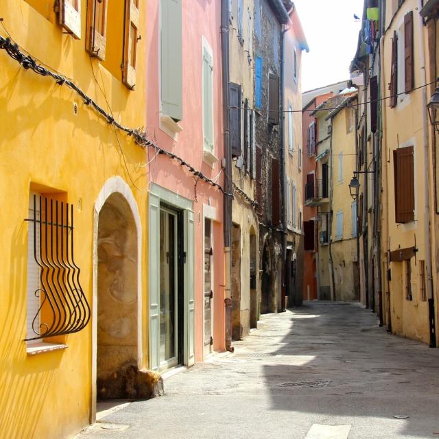
[[[87,5],[87,51],[105,60],[105,47],[107,39],[107,2],[108,0],[88,0]]]

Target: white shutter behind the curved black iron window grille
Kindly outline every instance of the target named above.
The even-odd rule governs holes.
[[[28,217],[34,218],[34,195],[36,195],[36,219],[40,219],[40,194],[31,192],[29,195]],[[32,322],[38,315],[40,308],[40,266],[35,261],[35,252],[40,253],[40,227],[36,224],[36,233],[34,233],[34,223],[27,222],[29,233],[27,238],[27,309],[26,309],[26,338],[36,337],[32,329]],[[34,241],[35,235],[35,241]],[[34,246],[35,244],[35,246]],[[35,251],[34,251],[35,250]],[[36,296],[36,293],[38,296]],[[40,329],[40,316],[38,315],[34,322],[36,331]],[[38,343],[40,340],[32,340],[28,343]]]

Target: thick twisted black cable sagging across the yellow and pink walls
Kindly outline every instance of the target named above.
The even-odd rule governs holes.
[[[195,169],[178,155],[174,154],[173,152],[164,150],[162,147],[156,145],[156,143],[146,137],[143,130],[132,129],[121,125],[121,123],[117,122],[115,118],[110,115],[110,113],[106,112],[106,110],[99,106],[99,104],[97,104],[97,102],[95,102],[90,96],[86,95],[86,93],[84,93],[84,91],[82,91],[81,88],[79,88],[72,80],[69,80],[64,75],[51,71],[51,69],[43,67],[42,65],[38,64],[38,62],[36,62],[36,59],[32,56],[23,54],[23,52],[20,50],[19,45],[12,42],[12,38],[4,38],[3,36],[0,36],[0,49],[5,50],[12,59],[19,62],[23,69],[32,70],[41,76],[49,76],[50,78],[55,80],[58,85],[71,88],[71,90],[75,91],[75,93],[77,93],[83,99],[86,106],[90,106],[91,108],[93,108],[93,110],[95,110],[99,116],[105,119],[106,122],[112,125],[115,129],[117,128],[118,130],[126,132],[126,134],[128,134],[129,136],[132,136],[134,141],[140,147],[143,147],[144,149],[147,147],[154,148],[157,154],[168,156],[169,158],[171,158],[171,160],[178,162],[180,166],[187,169],[191,174],[193,174],[193,176],[195,176],[199,180],[204,180],[209,185],[215,187],[215,189],[219,189],[219,191],[224,193],[224,189],[221,185],[202,174],[201,171]],[[233,196],[233,194],[227,195]]]

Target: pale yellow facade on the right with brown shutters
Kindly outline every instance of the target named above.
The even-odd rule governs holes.
[[[386,4],[381,43],[381,94],[390,97],[382,106],[382,289],[390,300],[387,316],[392,332],[430,343],[435,240],[430,227],[427,29],[417,1],[399,3]]]

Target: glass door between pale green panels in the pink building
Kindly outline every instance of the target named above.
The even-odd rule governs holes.
[[[160,368],[178,364],[177,215],[160,211]]]

